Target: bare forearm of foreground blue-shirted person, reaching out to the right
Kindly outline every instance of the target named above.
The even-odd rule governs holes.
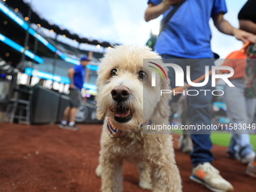
[[[256,43],[255,35],[249,32],[242,31],[241,29],[236,29],[233,26],[231,26],[230,23],[224,19],[224,14],[222,12],[215,14],[215,16],[213,17],[213,22],[216,28],[226,35],[233,35],[236,37],[237,40],[240,40],[244,43],[246,41],[251,41],[251,43],[253,44]]]

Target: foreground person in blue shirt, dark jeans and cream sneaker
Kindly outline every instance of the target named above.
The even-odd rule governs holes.
[[[145,11],[145,20],[154,20],[163,14],[169,14],[176,3],[181,0],[149,0]],[[209,20],[212,18],[215,27],[224,34],[233,35],[240,41],[255,43],[255,36],[251,33],[236,29],[224,19],[227,7],[224,0],[187,0],[169,20],[157,38],[154,50],[164,59],[174,59],[186,73],[186,66],[190,66],[190,78],[195,80],[205,75],[205,66],[214,66],[214,53],[211,50],[212,32]],[[188,59],[188,60],[187,60]],[[171,87],[175,88],[175,71],[169,68]],[[200,90],[212,90],[212,81],[203,87],[191,87],[198,90],[197,96],[187,96],[187,105],[190,114],[190,124],[210,125],[210,103],[212,93]],[[190,89],[190,88],[189,88]],[[194,151],[190,154],[194,169],[190,179],[204,184],[212,191],[233,191],[233,186],[221,177],[218,169],[212,166],[212,142],[210,130],[203,133],[192,133]]]

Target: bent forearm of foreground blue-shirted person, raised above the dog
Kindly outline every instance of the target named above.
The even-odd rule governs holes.
[[[181,2],[181,0],[163,0],[158,5],[154,5],[153,3],[148,4],[148,8],[145,11],[145,21],[148,22],[150,20],[154,20],[159,17],[161,14],[169,10],[172,4]]]

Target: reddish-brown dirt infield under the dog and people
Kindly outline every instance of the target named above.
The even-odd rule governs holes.
[[[61,130],[56,125],[23,126],[0,123],[0,191],[96,192],[100,125],[81,125],[81,130]],[[176,148],[184,192],[209,191],[190,181],[190,157]],[[253,192],[256,180],[245,175],[245,165],[227,159],[226,148],[214,146],[215,162],[236,191]],[[135,165],[124,163],[123,191],[142,192]]]

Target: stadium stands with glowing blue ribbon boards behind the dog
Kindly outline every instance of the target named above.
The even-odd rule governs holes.
[[[20,13],[20,8],[19,11],[12,8],[6,3],[9,1],[13,2],[13,0],[0,2],[0,58],[9,64],[11,69],[18,68],[26,75],[35,76],[36,72],[38,78],[69,84],[68,69],[73,65],[79,65],[81,56],[90,56],[91,53],[91,62],[86,70],[90,69],[92,78],[84,84],[84,88],[90,90],[90,94],[95,94],[96,70],[103,53],[72,47],[58,41],[58,38],[48,37],[44,34],[44,27],[35,29],[33,26],[36,24],[26,22],[26,18]],[[29,37],[27,43],[26,36]]]

